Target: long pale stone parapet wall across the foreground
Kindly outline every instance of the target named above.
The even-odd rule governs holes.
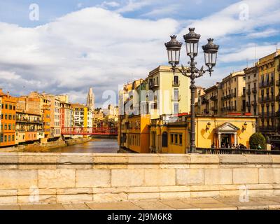
[[[244,188],[280,195],[280,155],[0,153],[0,204],[226,197]]]

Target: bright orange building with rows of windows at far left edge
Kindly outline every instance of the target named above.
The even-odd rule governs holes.
[[[17,100],[3,93],[0,89],[1,97],[1,134],[0,147],[15,145],[15,107]]]

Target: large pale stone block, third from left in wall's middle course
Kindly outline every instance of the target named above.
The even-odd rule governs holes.
[[[109,169],[77,169],[76,188],[93,188],[111,186]]]

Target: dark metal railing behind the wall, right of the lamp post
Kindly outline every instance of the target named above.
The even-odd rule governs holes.
[[[197,148],[200,154],[254,154],[254,155],[280,155],[280,151],[267,151],[244,148]]]

